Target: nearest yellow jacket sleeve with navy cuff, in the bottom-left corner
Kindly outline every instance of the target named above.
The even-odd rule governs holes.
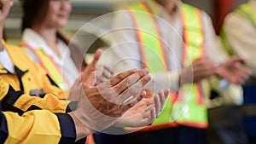
[[[73,143],[76,139],[73,119],[68,114],[34,110],[21,117],[15,112],[3,112],[3,115],[8,130],[4,143]]]

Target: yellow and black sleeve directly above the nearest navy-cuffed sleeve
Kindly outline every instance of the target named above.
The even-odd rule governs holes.
[[[76,102],[58,100],[55,95],[47,94],[44,98],[25,95],[16,91],[0,78],[0,101],[4,111],[18,112],[20,115],[33,109],[45,109],[50,112],[70,112],[75,109]]]

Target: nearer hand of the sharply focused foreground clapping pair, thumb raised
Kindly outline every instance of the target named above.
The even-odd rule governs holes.
[[[150,80],[147,69],[133,69],[95,85],[96,64],[101,55],[102,51],[97,50],[94,60],[82,72],[85,96],[79,96],[78,107],[73,111],[73,115],[92,130],[108,128],[141,101],[146,95],[141,89]]]

